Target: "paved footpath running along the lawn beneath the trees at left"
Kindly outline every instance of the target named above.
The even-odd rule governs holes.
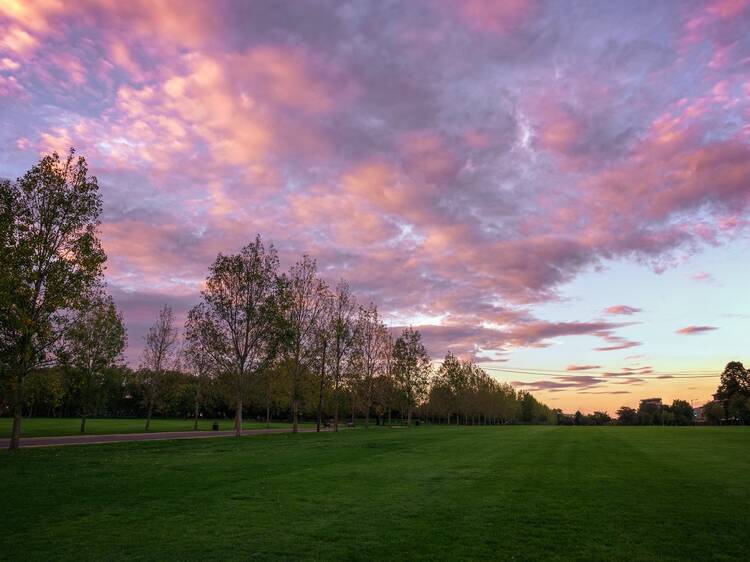
[[[315,428],[300,428],[300,433],[314,432]],[[329,431],[322,429],[321,431]],[[246,429],[242,435],[291,433],[291,429]],[[202,439],[206,437],[234,437],[231,431],[160,431],[153,433],[116,433],[111,435],[65,435],[60,437],[21,437],[21,447],[57,447],[58,445],[93,445],[124,441],[163,441],[167,439]],[[7,449],[10,439],[0,439],[0,448]]]

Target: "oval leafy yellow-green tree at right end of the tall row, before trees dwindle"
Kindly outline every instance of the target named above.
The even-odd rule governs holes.
[[[393,346],[393,372],[403,394],[407,425],[411,425],[412,411],[427,390],[430,380],[430,360],[422,334],[406,328]]]

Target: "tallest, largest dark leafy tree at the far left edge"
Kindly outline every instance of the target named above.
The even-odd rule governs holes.
[[[12,387],[10,448],[19,445],[23,382],[47,365],[106,260],[101,196],[84,158],[44,156],[0,181],[0,370]]]

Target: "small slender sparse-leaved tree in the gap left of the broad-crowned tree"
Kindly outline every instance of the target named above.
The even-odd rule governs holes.
[[[151,415],[157,397],[157,388],[164,371],[174,366],[177,328],[174,325],[172,308],[167,306],[159,311],[156,322],[146,334],[143,349],[143,384],[146,398],[146,431],[151,427]]]

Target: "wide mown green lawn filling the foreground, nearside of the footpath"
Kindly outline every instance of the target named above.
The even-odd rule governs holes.
[[[0,453],[13,560],[741,560],[750,431],[371,429]]]

